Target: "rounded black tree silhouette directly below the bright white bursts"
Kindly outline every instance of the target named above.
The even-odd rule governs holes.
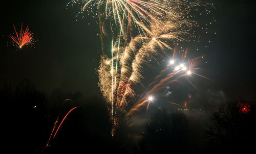
[[[142,153],[180,153],[194,150],[189,121],[182,112],[157,112],[146,122],[142,135]]]

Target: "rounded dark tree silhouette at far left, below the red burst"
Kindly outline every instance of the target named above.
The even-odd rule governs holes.
[[[48,120],[44,106],[47,103],[45,92],[36,90],[29,80],[23,80],[12,88],[0,90],[2,125],[6,137],[5,148],[10,151],[35,152],[44,145],[48,136]]]

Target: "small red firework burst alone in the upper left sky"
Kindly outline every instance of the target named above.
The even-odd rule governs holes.
[[[29,29],[28,29],[28,25],[27,25],[27,28],[25,31],[23,31],[23,29],[21,28],[19,30],[19,33],[17,33],[16,29],[15,29],[15,26],[13,24],[13,27],[14,27],[14,30],[15,30],[15,34],[16,34],[16,37],[14,36],[9,36],[15,43],[18,44],[19,48],[22,48],[23,45],[26,45],[28,44],[31,39],[33,38],[33,33],[30,33],[29,32]]]

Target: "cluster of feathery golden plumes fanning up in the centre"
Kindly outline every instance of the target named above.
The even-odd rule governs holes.
[[[151,65],[151,61],[155,60],[155,57],[165,55],[167,49],[172,49],[165,41],[173,41],[176,39],[185,40],[184,36],[187,33],[184,30],[177,29],[177,25],[181,24],[182,21],[177,22],[162,22],[166,26],[166,29],[159,30],[158,25],[152,25],[151,28],[143,27],[144,31],[147,32],[147,36],[139,35],[133,38],[133,40],[123,49],[123,52],[119,52],[120,40],[114,43],[112,49],[112,59],[102,56],[101,65],[99,67],[99,86],[103,93],[103,96],[112,102],[112,115],[113,110],[123,111],[127,106],[127,99],[133,98],[135,95],[132,85],[138,83],[142,85],[141,80],[143,79],[143,65]],[[140,24],[138,22],[138,24]],[[166,33],[168,32],[168,33]],[[185,54],[186,55],[186,54]],[[117,58],[120,57],[119,65]],[[112,65],[106,66],[109,61],[112,61]],[[113,61],[116,61],[116,68],[113,68]],[[156,61],[156,60],[155,60]],[[118,70],[119,66],[119,70]],[[111,83],[108,82],[108,67],[111,72]],[[115,86],[113,88],[113,75],[115,70]],[[119,71],[119,72],[118,72]],[[117,75],[118,73],[118,75]],[[118,78],[119,77],[119,78]],[[116,79],[119,79],[118,81]],[[109,87],[107,85],[112,85]],[[114,86],[114,87],[115,87]],[[108,90],[110,89],[111,90]],[[109,91],[111,91],[111,98],[109,97]],[[115,104],[115,105],[114,105]],[[115,106],[115,109],[114,109]]]

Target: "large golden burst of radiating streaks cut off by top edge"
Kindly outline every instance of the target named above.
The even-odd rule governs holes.
[[[104,20],[114,20],[117,28],[122,30],[124,39],[132,39],[133,32],[135,36],[137,32],[146,34],[137,22],[143,22],[145,26],[159,21],[184,20],[187,13],[199,4],[198,1],[192,3],[181,0],[73,0],[72,3],[83,4],[81,12],[94,12],[93,8],[97,8],[100,29],[103,29]],[[159,24],[159,29],[163,29],[163,25]],[[130,35],[126,35],[127,32]]]

